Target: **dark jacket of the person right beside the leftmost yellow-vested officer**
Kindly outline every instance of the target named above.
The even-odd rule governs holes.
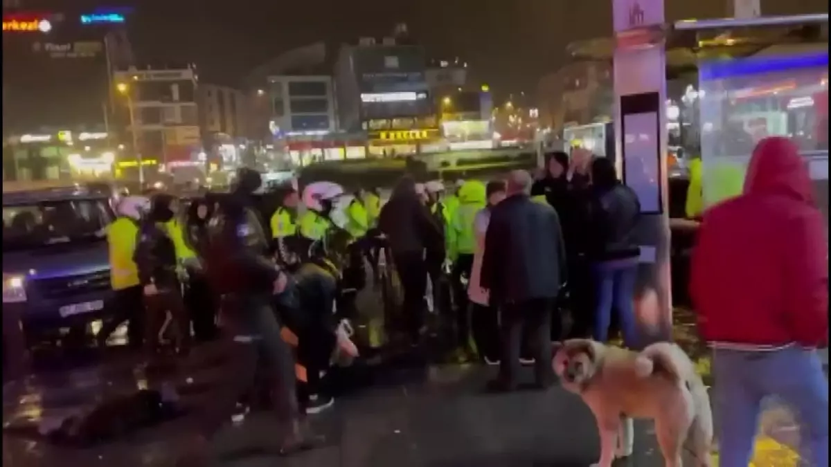
[[[145,220],[139,227],[133,261],[139,270],[141,285],[154,283],[159,289],[178,289],[176,273],[176,248],[164,229],[152,220]]]

